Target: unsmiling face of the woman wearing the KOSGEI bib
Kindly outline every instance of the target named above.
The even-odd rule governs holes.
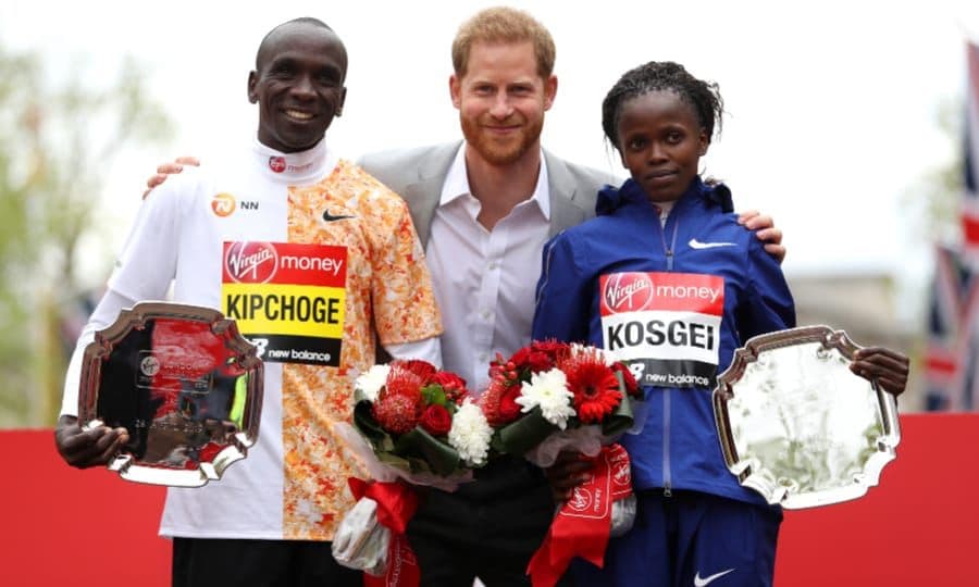
[[[623,102],[616,136],[622,165],[654,202],[683,196],[709,145],[693,107],[670,90]]]

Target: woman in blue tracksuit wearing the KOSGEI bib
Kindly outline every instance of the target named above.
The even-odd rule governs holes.
[[[730,190],[698,175],[723,103],[682,65],[625,73],[603,102],[603,126],[631,178],[598,196],[597,217],[544,249],[535,339],[612,350],[646,389],[649,417],[622,445],[640,499],[633,530],[606,565],[573,566],[580,585],[770,585],[781,510],[724,465],[710,402],[734,349],[795,326],[778,262],[736,222]],[[900,394],[907,359],[865,349],[854,367]],[[562,460],[556,495],[586,464]]]

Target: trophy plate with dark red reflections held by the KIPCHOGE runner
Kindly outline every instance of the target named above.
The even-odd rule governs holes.
[[[129,432],[109,464],[123,478],[198,487],[258,438],[262,375],[255,347],[221,312],[141,302],[86,347],[78,421]]]

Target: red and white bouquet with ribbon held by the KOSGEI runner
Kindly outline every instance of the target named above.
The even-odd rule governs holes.
[[[604,564],[609,536],[635,517],[629,457],[615,441],[634,429],[642,390],[629,367],[603,349],[534,341],[497,355],[480,399],[496,451],[552,466],[562,451],[594,458],[588,480],[559,510],[528,567],[535,587],[553,585],[571,558]]]

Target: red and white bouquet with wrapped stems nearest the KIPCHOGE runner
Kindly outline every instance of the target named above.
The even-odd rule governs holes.
[[[352,426],[336,432],[371,480],[349,479],[358,502],[340,522],[334,558],[385,585],[417,585],[404,537],[418,505],[411,486],[453,490],[470,480],[486,464],[493,429],[466,382],[424,361],[374,365],[356,379],[354,399]]]

